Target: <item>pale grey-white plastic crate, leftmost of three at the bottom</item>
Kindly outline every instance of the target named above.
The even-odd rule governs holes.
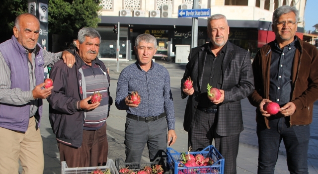
[[[110,169],[111,174],[119,174],[115,163],[112,159],[108,159],[106,166],[98,166],[98,167],[86,167],[86,168],[68,168],[68,165],[65,161],[62,161],[62,170],[61,174],[90,174],[96,169],[100,169],[101,171],[105,171],[106,169]]]

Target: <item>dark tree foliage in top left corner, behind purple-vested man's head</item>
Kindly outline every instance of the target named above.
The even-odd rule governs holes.
[[[0,43],[11,38],[14,19],[28,11],[28,0],[1,0],[0,3]]]

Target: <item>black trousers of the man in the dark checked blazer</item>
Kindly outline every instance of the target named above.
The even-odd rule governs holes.
[[[237,173],[237,157],[239,153],[239,134],[223,137],[216,133],[216,114],[196,110],[194,123],[188,132],[188,147],[192,151],[201,151],[212,144],[225,159],[224,174]]]

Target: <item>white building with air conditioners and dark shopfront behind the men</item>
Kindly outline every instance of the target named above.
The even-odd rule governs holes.
[[[100,57],[116,58],[120,23],[119,59],[136,59],[135,38],[142,33],[154,35],[158,41],[158,61],[173,61],[175,45],[191,45],[191,18],[177,18],[178,9],[191,9],[193,0],[101,0],[101,22],[97,30],[102,41]],[[199,8],[210,8],[211,15],[224,14],[229,22],[229,41],[248,50],[251,56],[274,40],[273,11],[282,5],[295,6],[300,12],[297,35],[303,37],[306,0],[199,0]],[[207,18],[198,19],[198,45],[209,42]]]

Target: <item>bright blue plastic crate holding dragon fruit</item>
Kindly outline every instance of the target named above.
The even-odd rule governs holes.
[[[190,152],[193,156],[201,154],[204,158],[210,157],[214,164],[212,166],[186,167],[180,163],[182,154],[172,148],[167,148],[167,168],[174,174],[224,174],[224,158],[214,146],[208,146],[202,151]],[[182,167],[178,167],[181,165]]]

